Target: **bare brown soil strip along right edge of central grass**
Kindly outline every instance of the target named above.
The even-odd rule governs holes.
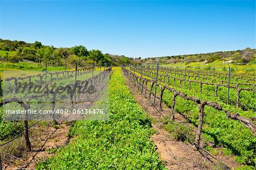
[[[216,169],[217,167],[210,162],[207,157],[203,156],[199,151],[193,150],[193,146],[188,143],[174,140],[169,132],[163,129],[163,122],[160,121],[162,115],[170,114],[170,109],[163,103],[163,111],[159,113],[152,102],[145,98],[135,87],[132,82],[125,76],[126,85],[129,86],[131,92],[137,102],[143,107],[150,117],[155,119],[152,125],[156,133],[152,136],[152,140],[156,144],[160,158],[166,162],[168,169]],[[176,122],[183,122],[191,126],[181,115],[175,115]],[[223,157],[222,157],[223,158]],[[225,157],[225,164],[230,167],[238,167],[239,165],[230,157]]]

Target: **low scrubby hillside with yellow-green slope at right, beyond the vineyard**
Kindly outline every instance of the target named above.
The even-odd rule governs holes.
[[[256,49],[246,48],[237,51],[198,53],[192,55],[177,55],[151,57],[147,59],[138,58],[135,60],[141,64],[155,64],[177,67],[200,67],[206,70],[228,72],[254,73],[256,71]]]

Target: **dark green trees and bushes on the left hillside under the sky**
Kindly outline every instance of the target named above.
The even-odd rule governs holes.
[[[98,49],[89,50],[83,45],[76,45],[71,48],[55,48],[52,45],[43,45],[41,42],[26,43],[18,40],[0,39],[0,59],[7,63],[18,63],[19,61],[32,61],[42,67],[42,63],[59,67],[65,63],[73,64],[75,62],[82,65],[94,64],[104,65],[112,63],[113,65],[130,64],[132,58],[126,56],[110,55],[102,53]]]

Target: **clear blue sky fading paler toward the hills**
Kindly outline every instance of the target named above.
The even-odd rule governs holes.
[[[0,0],[0,38],[153,57],[255,48],[255,1]]]

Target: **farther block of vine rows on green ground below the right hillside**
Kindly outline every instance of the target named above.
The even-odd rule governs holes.
[[[134,73],[143,73],[143,76],[150,77],[155,80],[156,74],[159,77],[158,81],[164,82],[168,85],[172,83],[176,86],[188,90],[200,89],[202,94],[203,86],[207,88],[215,88],[213,95],[212,91],[208,90],[207,95],[221,100],[228,105],[236,105],[237,108],[243,110],[256,110],[256,101],[254,95],[256,93],[256,77],[253,74],[234,74],[232,68],[229,67],[228,73],[219,72],[204,72],[199,69],[193,70],[184,68],[174,68],[159,66],[159,72],[157,71],[158,65],[130,65],[128,68]],[[177,84],[178,82],[178,84]],[[183,84],[181,84],[183,82]],[[193,86],[192,86],[193,84]],[[197,88],[199,86],[199,88]],[[218,95],[218,93],[226,89],[226,99],[224,96]],[[230,100],[230,89],[232,89],[232,99]],[[235,95],[236,94],[236,95]],[[241,94],[242,100],[241,100]],[[251,96],[251,97],[250,97]],[[241,102],[242,101],[242,102]]]

